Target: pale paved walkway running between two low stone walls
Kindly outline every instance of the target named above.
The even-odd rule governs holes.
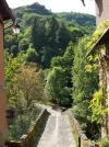
[[[50,108],[48,111],[51,115],[37,147],[76,147],[68,116]]]

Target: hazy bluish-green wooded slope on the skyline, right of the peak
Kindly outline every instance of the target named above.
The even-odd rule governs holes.
[[[96,25],[96,19],[90,14],[82,14],[76,12],[63,12],[57,14],[59,18],[68,21],[69,26],[77,26],[82,30],[85,30],[85,33],[90,33],[94,31]]]

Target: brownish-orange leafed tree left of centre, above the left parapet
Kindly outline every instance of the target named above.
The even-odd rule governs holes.
[[[44,83],[36,65],[21,66],[19,74],[15,75],[13,92],[15,99],[25,101],[25,105],[29,109],[33,101],[44,100]],[[21,103],[16,102],[20,108]],[[20,109],[21,110],[21,109]]]

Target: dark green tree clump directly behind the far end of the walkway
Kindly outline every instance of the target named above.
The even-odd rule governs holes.
[[[51,70],[47,77],[46,97],[50,101],[61,106],[70,108],[72,105],[71,97],[71,68],[74,58],[74,46],[70,42],[63,56],[53,57],[51,60]]]

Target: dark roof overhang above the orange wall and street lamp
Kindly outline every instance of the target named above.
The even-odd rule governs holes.
[[[0,0],[0,14],[3,18],[3,21],[11,19],[14,22],[15,20],[5,0]]]

